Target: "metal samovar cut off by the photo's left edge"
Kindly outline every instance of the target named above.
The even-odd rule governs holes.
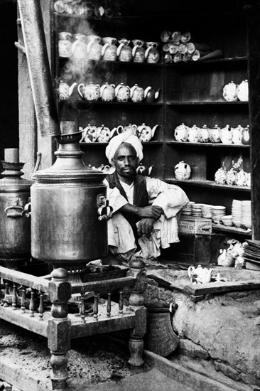
[[[25,205],[30,197],[31,181],[21,178],[24,163],[18,149],[4,150],[4,171],[0,179],[0,262],[10,269],[31,258],[31,226]]]

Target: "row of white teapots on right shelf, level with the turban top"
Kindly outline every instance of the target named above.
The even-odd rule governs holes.
[[[217,124],[213,128],[203,125],[202,128],[193,125],[188,127],[184,123],[175,128],[174,136],[176,141],[190,141],[199,143],[223,143],[236,145],[249,145],[250,134],[249,125],[242,127],[238,125],[235,128],[226,125],[220,128]]]

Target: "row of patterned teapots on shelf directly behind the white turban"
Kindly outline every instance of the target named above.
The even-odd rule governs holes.
[[[108,127],[105,127],[102,124],[100,127],[95,127],[94,125],[88,124],[87,127],[80,127],[82,132],[81,142],[92,143],[92,142],[109,142],[113,136],[117,136],[122,132],[130,130],[133,134],[139,137],[141,142],[150,141],[158,128],[158,124],[154,127],[149,127],[146,124],[141,124],[137,126],[136,124],[129,124],[126,127],[119,125],[110,130]]]

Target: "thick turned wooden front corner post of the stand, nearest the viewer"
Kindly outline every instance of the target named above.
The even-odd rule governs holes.
[[[67,270],[54,269],[51,273],[50,300],[52,318],[48,322],[48,348],[50,365],[53,369],[51,380],[53,390],[64,390],[67,380],[67,350],[70,349],[70,320],[67,318],[67,301],[71,286]]]

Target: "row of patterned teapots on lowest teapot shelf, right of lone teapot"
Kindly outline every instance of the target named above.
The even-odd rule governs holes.
[[[234,167],[227,171],[226,167],[223,166],[215,172],[215,182],[218,185],[246,186],[250,188],[251,174],[243,169],[237,171]]]

